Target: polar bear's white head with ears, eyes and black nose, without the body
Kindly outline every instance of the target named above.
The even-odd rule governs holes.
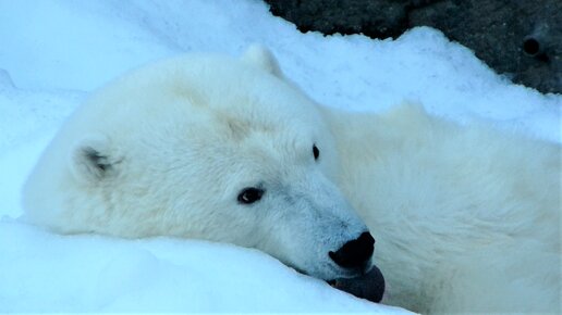
[[[162,61],[69,118],[24,206],[61,232],[229,242],[352,277],[370,266],[374,239],[338,188],[325,119],[262,48]]]

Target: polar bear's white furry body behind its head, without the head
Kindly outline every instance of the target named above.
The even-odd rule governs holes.
[[[332,122],[347,153],[340,187],[377,239],[390,303],[420,313],[559,313],[558,144],[416,108]]]

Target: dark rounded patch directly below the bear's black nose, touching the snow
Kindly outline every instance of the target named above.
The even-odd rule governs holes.
[[[358,277],[340,278],[330,280],[328,284],[339,290],[375,303],[379,303],[384,294],[384,277],[375,265],[368,273]]]

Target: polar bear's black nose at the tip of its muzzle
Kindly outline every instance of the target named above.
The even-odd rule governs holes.
[[[366,231],[359,238],[346,242],[338,251],[330,251],[328,254],[341,267],[365,268],[374,250],[375,239],[370,232]]]

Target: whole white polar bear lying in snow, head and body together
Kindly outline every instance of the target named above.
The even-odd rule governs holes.
[[[229,242],[326,280],[374,260],[384,302],[416,312],[557,313],[561,151],[419,106],[322,106],[254,46],[100,89],[47,148],[23,203],[58,232]]]

